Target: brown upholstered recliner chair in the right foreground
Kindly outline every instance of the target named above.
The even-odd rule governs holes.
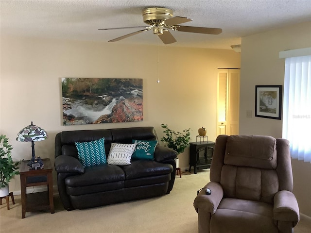
[[[293,233],[299,221],[286,139],[220,135],[194,200],[199,233]]]

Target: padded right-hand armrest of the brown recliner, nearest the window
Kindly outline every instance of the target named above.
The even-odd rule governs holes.
[[[277,221],[293,222],[293,226],[299,221],[299,207],[294,194],[282,190],[274,196],[273,218]]]

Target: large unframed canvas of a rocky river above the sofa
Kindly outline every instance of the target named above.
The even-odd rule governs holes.
[[[142,121],[142,79],[62,78],[63,125]]]

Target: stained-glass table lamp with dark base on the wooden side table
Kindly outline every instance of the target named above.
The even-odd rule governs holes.
[[[35,143],[36,141],[42,141],[48,138],[48,133],[44,130],[41,129],[40,127],[36,126],[31,122],[31,124],[25,128],[23,128],[19,133],[17,133],[17,141],[20,142],[31,142],[31,147],[32,147],[32,157],[31,163],[37,163],[38,159],[35,158]],[[29,165],[28,165],[29,166]]]

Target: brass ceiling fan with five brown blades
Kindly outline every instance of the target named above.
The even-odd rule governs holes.
[[[125,39],[129,36],[136,35],[138,33],[144,33],[153,30],[154,34],[162,40],[164,44],[172,44],[176,42],[176,39],[170,33],[169,29],[176,32],[186,32],[186,33],[204,33],[204,34],[220,34],[223,32],[221,28],[204,28],[204,27],[190,27],[179,25],[181,23],[186,23],[192,21],[192,19],[187,17],[173,17],[173,11],[168,8],[162,7],[151,7],[144,9],[142,11],[142,17],[146,24],[150,26],[137,26],[137,27],[122,27],[122,28],[102,28],[98,30],[114,30],[114,29],[126,29],[126,28],[144,28],[134,33],[129,33],[122,35],[118,38],[109,40],[108,42],[115,42]]]

